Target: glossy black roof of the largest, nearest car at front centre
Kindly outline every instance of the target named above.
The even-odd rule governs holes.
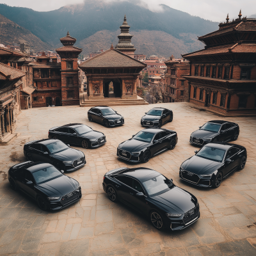
[[[144,182],[145,180],[152,179],[160,175],[161,173],[156,172],[155,170],[152,170],[152,169],[138,167],[138,168],[131,168],[131,169],[116,173],[116,175],[120,175],[120,174],[124,174],[132,178],[138,179],[141,182]]]

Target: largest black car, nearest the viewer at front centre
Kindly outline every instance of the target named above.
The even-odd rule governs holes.
[[[148,168],[118,168],[107,172],[103,189],[111,201],[120,200],[150,219],[157,229],[180,230],[200,217],[195,196]]]

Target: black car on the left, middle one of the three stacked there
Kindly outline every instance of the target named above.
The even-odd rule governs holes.
[[[84,153],[70,148],[60,140],[34,140],[24,145],[28,161],[51,163],[58,169],[70,172],[86,164]]]

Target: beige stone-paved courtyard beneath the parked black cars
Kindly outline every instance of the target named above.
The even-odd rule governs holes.
[[[88,108],[79,106],[22,111],[16,129],[20,136],[0,147],[0,255],[256,255],[256,118],[225,118],[240,126],[236,143],[247,148],[246,167],[223,180],[220,188],[203,189],[182,182],[179,167],[198,149],[189,144],[191,132],[222,118],[191,109],[188,103],[162,104],[173,110],[173,122],[163,127],[177,131],[174,150],[146,164],[129,164],[116,157],[118,144],[143,129],[140,118],[153,106],[113,107],[125,118],[125,124],[115,128],[90,123]],[[47,138],[49,128],[73,122],[104,132],[107,143],[97,149],[78,148],[87,163],[67,175],[81,184],[80,202],[58,212],[40,211],[27,196],[12,191],[8,168],[26,160],[24,143]],[[201,218],[179,232],[160,232],[137,212],[110,202],[102,179],[108,170],[122,166],[148,167],[172,178],[198,198]]]

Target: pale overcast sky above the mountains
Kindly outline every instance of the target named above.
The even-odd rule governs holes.
[[[87,0],[88,1],[88,0]],[[92,0],[89,0],[92,1]],[[98,0],[93,0],[98,1]],[[102,1],[102,0],[100,0]],[[105,0],[105,1],[125,1],[125,0]],[[230,19],[236,19],[240,8],[242,15],[249,17],[256,13],[255,0],[129,0],[132,3],[147,6],[153,12],[160,12],[159,4],[166,4],[182,12],[199,16],[212,21],[225,20],[227,13]],[[36,11],[56,10],[67,4],[83,3],[84,0],[0,0],[10,6],[20,6],[32,8]]]

